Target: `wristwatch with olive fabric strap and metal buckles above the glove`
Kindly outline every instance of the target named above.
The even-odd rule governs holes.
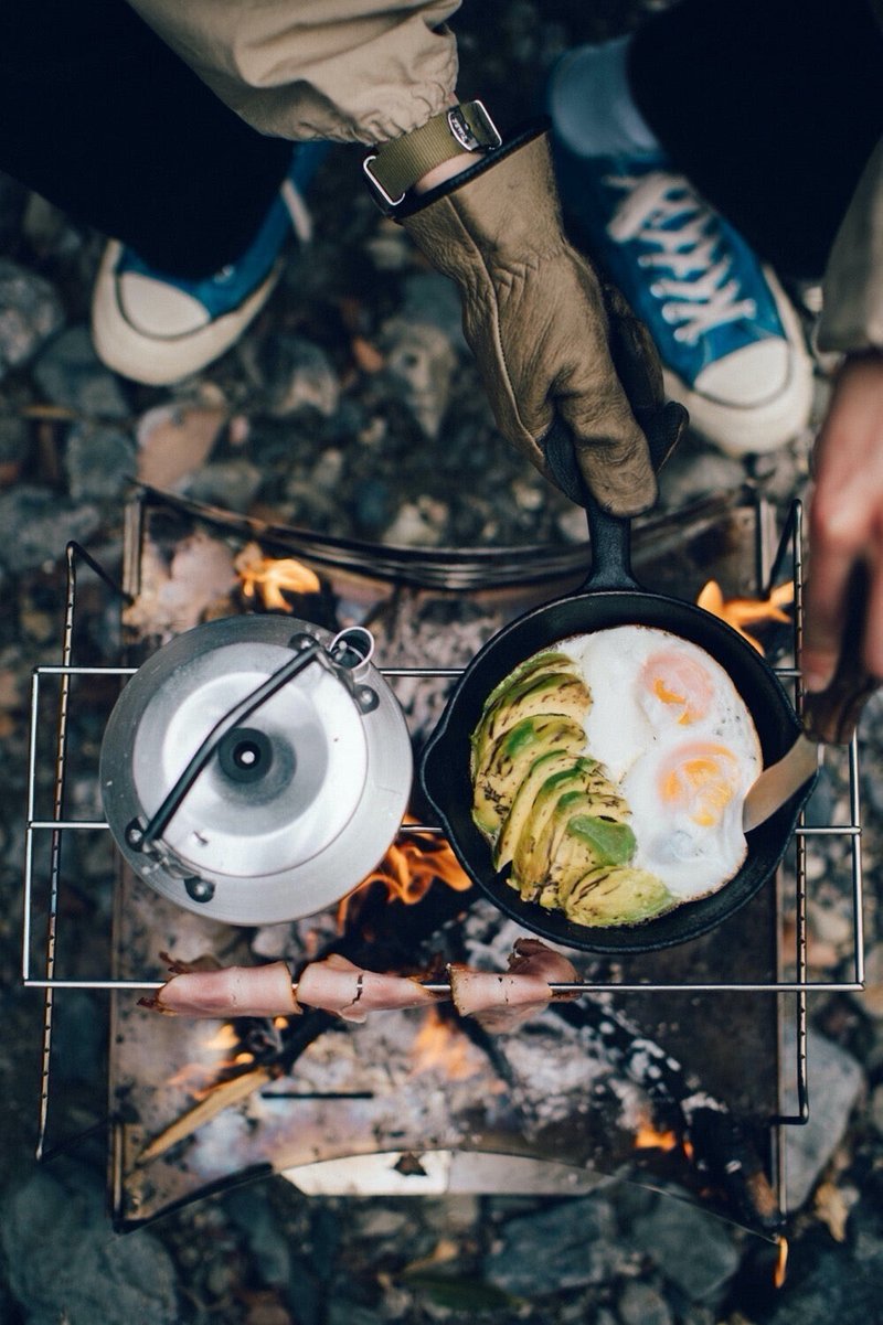
[[[399,207],[435,166],[465,152],[500,147],[502,139],[480,101],[465,101],[434,115],[419,129],[382,143],[362,162],[375,201],[384,212]]]

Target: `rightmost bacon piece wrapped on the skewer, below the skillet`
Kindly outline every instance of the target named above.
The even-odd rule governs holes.
[[[516,1031],[537,1016],[552,999],[549,982],[573,983],[577,973],[561,953],[536,938],[520,938],[509,958],[509,970],[473,971],[452,963],[451,995],[461,1016],[475,1016],[492,1035]]]

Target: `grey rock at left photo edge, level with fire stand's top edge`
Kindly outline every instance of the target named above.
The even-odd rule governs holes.
[[[101,513],[90,502],[20,484],[0,493],[0,566],[16,572],[52,564],[72,539],[85,542],[99,527]]]

